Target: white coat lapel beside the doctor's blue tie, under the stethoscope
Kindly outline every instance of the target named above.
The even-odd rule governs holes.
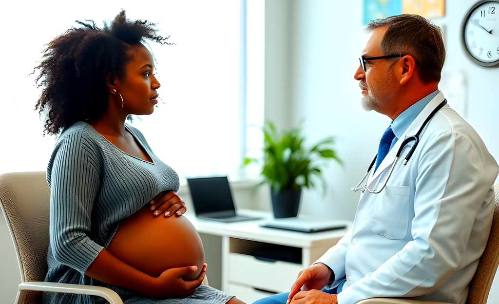
[[[412,136],[415,135],[423,122],[425,122],[426,118],[430,113],[442,102],[444,101],[444,93],[440,92],[437,94],[437,96],[433,97],[433,99],[426,105],[426,107],[419,113],[419,115],[414,119],[414,121],[409,125],[407,130],[400,136],[400,138],[397,140],[395,145],[392,147],[390,152],[386,155],[385,159],[381,162],[379,165],[378,169],[374,174],[372,171],[374,170],[371,169],[371,173],[369,174],[369,179],[367,180],[367,186],[369,187],[371,183],[387,168],[390,168],[391,165],[393,164],[395,160],[395,155],[397,154],[397,151],[399,150],[400,146],[402,145],[402,142],[405,140],[407,136]],[[409,135],[408,135],[409,134]],[[405,157],[404,155],[400,155],[400,157]],[[371,187],[369,187],[371,189]]]

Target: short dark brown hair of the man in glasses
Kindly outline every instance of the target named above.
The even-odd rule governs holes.
[[[423,83],[439,82],[445,61],[442,29],[420,15],[401,14],[371,20],[365,30],[388,25],[379,43],[385,55],[411,55],[421,64],[419,78]]]

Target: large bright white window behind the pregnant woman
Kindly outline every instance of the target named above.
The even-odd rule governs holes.
[[[181,177],[236,172],[247,147],[258,146],[253,143],[257,136],[246,136],[247,125],[261,125],[263,117],[263,0],[248,2],[252,1],[162,1],[151,9],[140,1],[126,5],[94,1],[84,7],[60,1],[51,6],[34,4],[23,15],[24,23],[18,22],[16,14],[6,16],[5,24],[16,28],[4,37],[12,47],[0,50],[2,58],[10,58],[4,59],[1,76],[0,173],[46,170],[55,139],[42,137],[43,122],[33,111],[41,91],[34,86],[34,75],[27,76],[41,60],[44,44],[76,26],[74,20],[92,18],[102,26],[101,20],[115,16],[121,7],[130,19],[159,22],[160,34],[170,35],[168,41],[175,43],[150,43],[157,59],[161,100],[152,115],[141,116],[132,125]],[[21,9],[21,4],[11,5]],[[251,11],[256,12],[250,15]],[[246,16],[250,16],[247,22],[241,22]],[[247,27],[240,28],[240,23],[258,20],[259,42],[251,45],[256,45],[259,58],[255,51],[240,51],[240,33],[248,33],[246,41],[254,35]],[[260,79],[251,80],[257,78],[252,66],[258,64]],[[246,74],[240,72],[241,66],[248,66]],[[247,92],[240,96],[244,86]]]

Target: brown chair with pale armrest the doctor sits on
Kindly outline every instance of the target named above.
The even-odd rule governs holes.
[[[499,265],[499,183],[494,185],[496,192],[494,219],[485,251],[478,263],[477,271],[470,284],[466,304],[487,304],[492,281]],[[416,301],[408,299],[373,298],[357,304],[442,304],[440,302]]]

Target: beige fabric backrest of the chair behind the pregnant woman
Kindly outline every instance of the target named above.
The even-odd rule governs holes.
[[[43,281],[47,274],[50,189],[45,172],[0,175],[0,206],[17,251],[22,282]],[[28,292],[25,303],[41,302]]]

